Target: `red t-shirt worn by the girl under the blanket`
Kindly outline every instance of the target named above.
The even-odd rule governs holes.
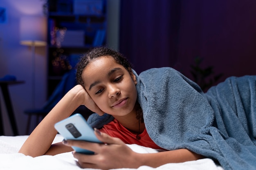
[[[105,132],[112,137],[118,137],[126,144],[137,144],[140,146],[145,146],[153,149],[162,149],[157,146],[152,139],[148,136],[148,132],[145,130],[139,134],[141,139],[137,139],[137,134],[130,132],[124,126],[119,124],[117,119],[114,119],[110,123],[103,126],[103,128],[99,129],[101,132]]]

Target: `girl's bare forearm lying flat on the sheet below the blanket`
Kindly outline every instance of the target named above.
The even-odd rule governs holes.
[[[166,163],[180,163],[204,158],[202,155],[198,155],[187,149],[178,149],[149,154],[135,153],[135,155],[135,158],[138,162],[137,168],[142,165],[156,168]]]

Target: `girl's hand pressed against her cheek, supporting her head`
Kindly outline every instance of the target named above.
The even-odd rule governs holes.
[[[79,97],[81,97],[81,101],[82,101],[81,105],[85,105],[88,109],[92,110],[93,112],[99,115],[104,114],[104,112],[94,103],[94,101],[92,100],[90,95],[87,93],[87,91],[85,91],[83,86],[78,84],[74,86],[72,90],[76,93],[76,95],[79,95]]]

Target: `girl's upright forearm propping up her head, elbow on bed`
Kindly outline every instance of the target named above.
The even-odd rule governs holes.
[[[32,157],[44,155],[57,134],[54,124],[69,117],[81,103],[79,91],[69,91],[33,130],[19,152]]]

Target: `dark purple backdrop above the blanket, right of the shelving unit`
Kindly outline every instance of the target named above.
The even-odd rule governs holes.
[[[255,0],[122,0],[120,51],[138,73],[171,66],[193,79],[199,57],[216,82],[256,74],[255,10]]]

